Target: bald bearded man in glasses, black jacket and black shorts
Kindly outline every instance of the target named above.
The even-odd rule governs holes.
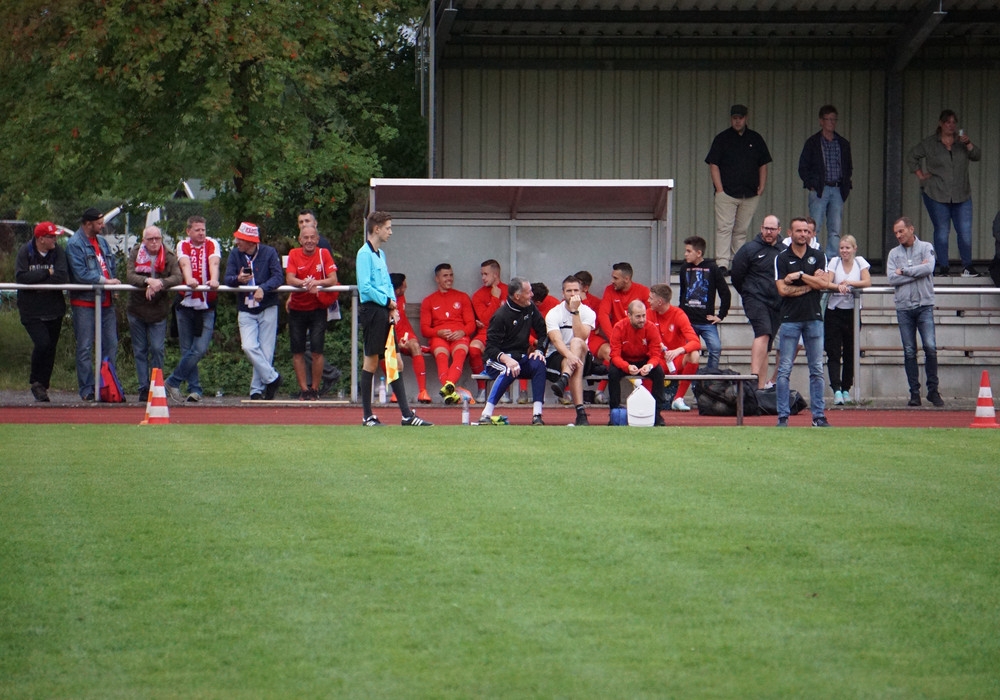
[[[733,257],[733,286],[743,297],[743,312],[753,327],[750,371],[757,386],[767,388],[767,355],[781,325],[781,295],[774,282],[774,259],[785,249],[780,241],[781,222],[774,214],[764,217],[760,233]]]

